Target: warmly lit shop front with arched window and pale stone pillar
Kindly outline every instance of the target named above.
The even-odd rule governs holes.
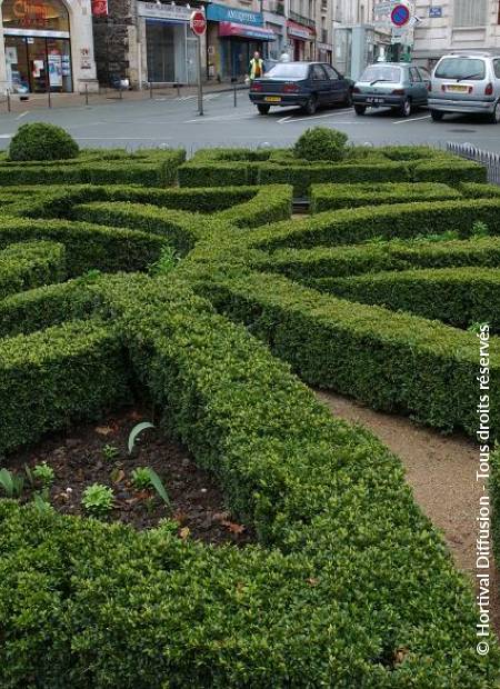
[[[86,82],[93,86],[96,64],[88,41],[91,16],[87,22],[83,18],[78,8],[61,0],[3,0],[2,90],[69,93],[83,90]]]

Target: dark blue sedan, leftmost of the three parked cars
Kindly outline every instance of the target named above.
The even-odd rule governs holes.
[[[352,104],[353,82],[326,62],[279,62],[250,83],[250,100],[260,114],[271,106],[300,106],[314,114],[320,106]]]

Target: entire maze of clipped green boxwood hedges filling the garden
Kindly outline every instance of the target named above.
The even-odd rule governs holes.
[[[0,500],[1,687],[496,686],[400,460],[309,388],[474,435],[474,323],[500,328],[482,168],[406,147],[109,156],[42,166],[43,187],[0,164],[0,451],[142,388],[258,542]]]

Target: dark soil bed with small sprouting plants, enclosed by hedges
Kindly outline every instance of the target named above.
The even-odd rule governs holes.
[[[157,429],[148,429],[129,455],[129,433],[142,420],[148,420],[148,416],[133,409],[113,415],[97,426],[77,426],[11,455],[3,466],[26,475],[24,466],[32,469],[47,462],[54,471],[50,501],[66,515],[84,516],[81,505],[84,489],[102,483],[114,493],[107,521],[118,520],[146,529],[169,517],[179,522],[180,538],[237,546],[253,541],[251,530],[231,518],[214,479],[197,467],[182,446]],[[148,467],[158,473],[170,498],[171,510],[154,489],[134,488],[131,475],[137,467]],[[30,500],[34,490],[36,487],[26,480],[21,500]]]

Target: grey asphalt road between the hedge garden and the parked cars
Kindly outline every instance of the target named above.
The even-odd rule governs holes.
[[[197,112],[196,96],[180,99],[111,101],[89,107],[37,109],[0,116],[0,149],[20,124],[33,121],[64,127],[82,147],[183,147],[191,152],[207,146],[262,144],[290,146],[312,126],[346,131],[354,143],[469,142],[478,148],[500,152],[500,124],[479,118],[448,116],[433,122],[426,110],[403,119],[387,110],[369,110],[357,117],[352,109],[320,110],[308,117],[297,108],[276,108],[259,116],[248,93],[210,93],[204,100],[204,116]]]

